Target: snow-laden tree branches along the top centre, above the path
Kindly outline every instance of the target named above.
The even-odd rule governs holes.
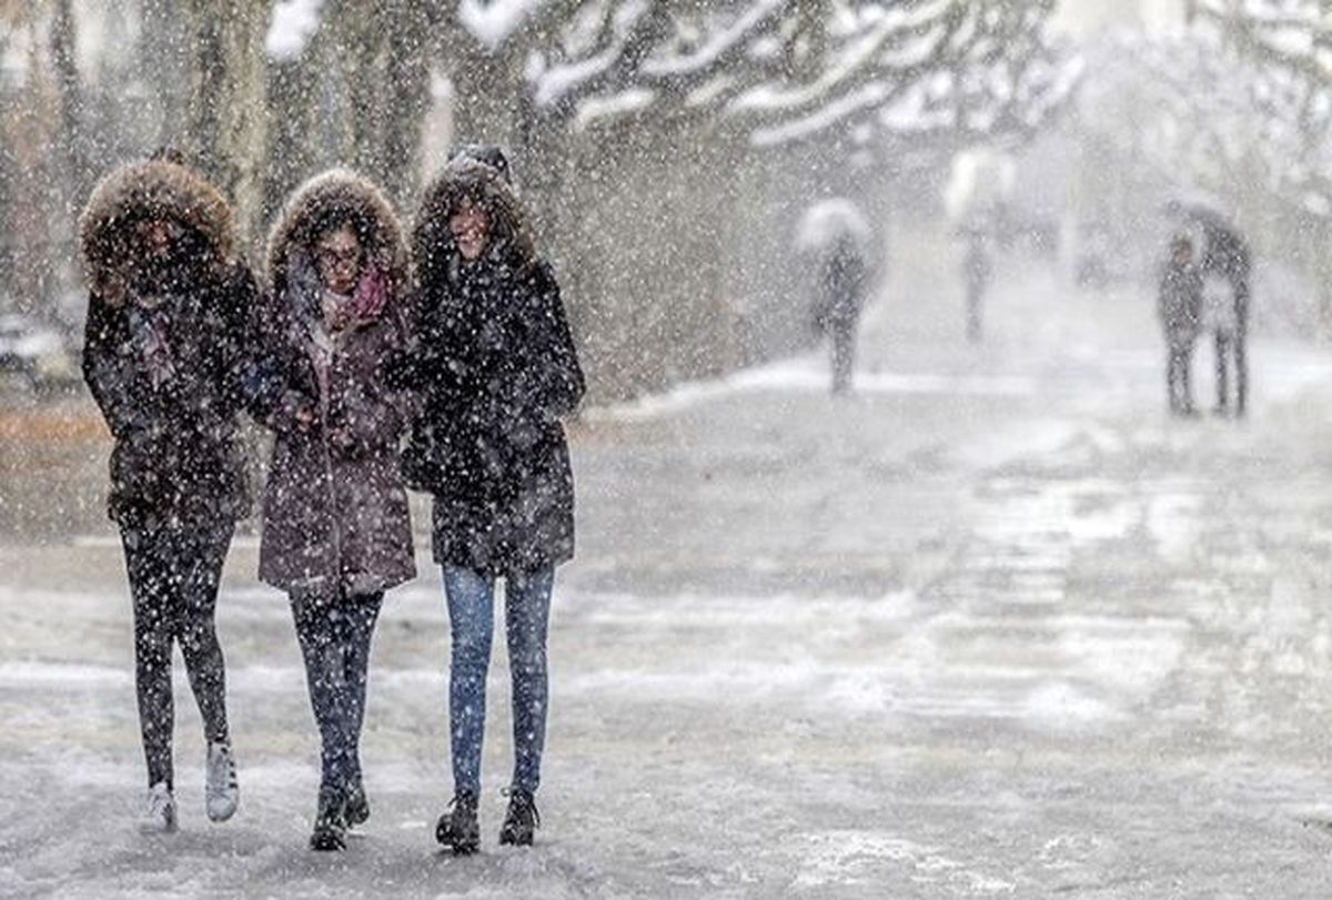
[[[569,13],[555,21],[553,8]],[[454,71],[521,61],[511,112],[585,126],[641,116],[723,122],[770,146],[826,134],[983,136],[1030,130],[1076,65],[1046,36],[1052,0],[591,0],[461,4],[473,52]],[[546,25],[530,21],[546,13]],[[477,60],[481,53],[488,59]],[[460,103],[474,100],[461,92]],[[492,117],[484,121],[492,122]]]

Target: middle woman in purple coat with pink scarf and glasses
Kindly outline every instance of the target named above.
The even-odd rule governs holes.
[[[326,172],[298,188],[268,246],[256,415],[276,435],[260,578],[289,592],[322,739],[310,845],[341,849],[369,816],[358,754],[384,592],[416,575],[398,474],[406,250],[384,194]]]

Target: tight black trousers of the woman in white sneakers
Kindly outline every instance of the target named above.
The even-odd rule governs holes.
[[[233,525],[121,531],[135,604],[135,679],[148,784],[172,784],[172,643],[204,719],[206,740],[226,740],[226,672],[213,611]]]

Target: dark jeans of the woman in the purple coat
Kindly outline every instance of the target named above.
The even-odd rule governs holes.
[[[382,602],[384,591],[348,594],[324,586],[292,591],[296,638],[320,727],[322,787],[345,791],[361,778],[370,638]]]

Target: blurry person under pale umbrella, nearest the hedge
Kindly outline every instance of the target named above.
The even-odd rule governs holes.
[[[870,282],[868,248],[874,232],[864,214],[846,198],[825,200],[806,210],[797,248],[815,276],[811,324],[832,350],[832,393],[851,389],[855,333]]]

